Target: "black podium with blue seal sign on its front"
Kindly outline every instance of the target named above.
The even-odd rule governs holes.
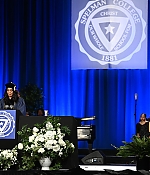
[[[12,149],[18,144],[17,131],[22,115],[19,110],[0,110],[0,149]]]

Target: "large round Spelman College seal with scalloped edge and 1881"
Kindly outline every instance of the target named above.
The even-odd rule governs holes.
[[[95,0],[79,12],[75,39],[90,61],[117,65],[141,49],[145,28],[142,11],[131,0]]]

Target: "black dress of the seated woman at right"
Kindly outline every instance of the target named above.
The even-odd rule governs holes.
[[[149,137],[149,122],[146,122],[144,125],[141,125],[140,123],[136,124],[136,134],[139,133],[140,137],[143,136]]]

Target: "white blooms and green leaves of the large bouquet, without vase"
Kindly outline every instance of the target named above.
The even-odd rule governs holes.
[[[70,134],[70,130],[66,126],[61,126],[59,120],[58,117],[48,116],[42,124],[35,124],[33,128],[24,126],[18,131],[20,169],[34,168],[36,162],[43,157],[52,159],[51,169],[59,169],[62,160],[74,152],[73,143],[65,139],[65,136]]]

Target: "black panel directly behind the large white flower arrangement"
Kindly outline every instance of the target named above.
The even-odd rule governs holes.
[[[70,129],[70,135],[66,137],[75,146],[75,151],[71,154],[66,161],[63,162],[64,169],[71,169],[78,166],[78,141],[77,141],[77,121],[72,116],[53,116],[59,117],[62,126],[67,126]],[[32,128],[36,123],[42,123],[46,119],[45,116],[20,116],[19,117],[19,130],[24,125]]]

